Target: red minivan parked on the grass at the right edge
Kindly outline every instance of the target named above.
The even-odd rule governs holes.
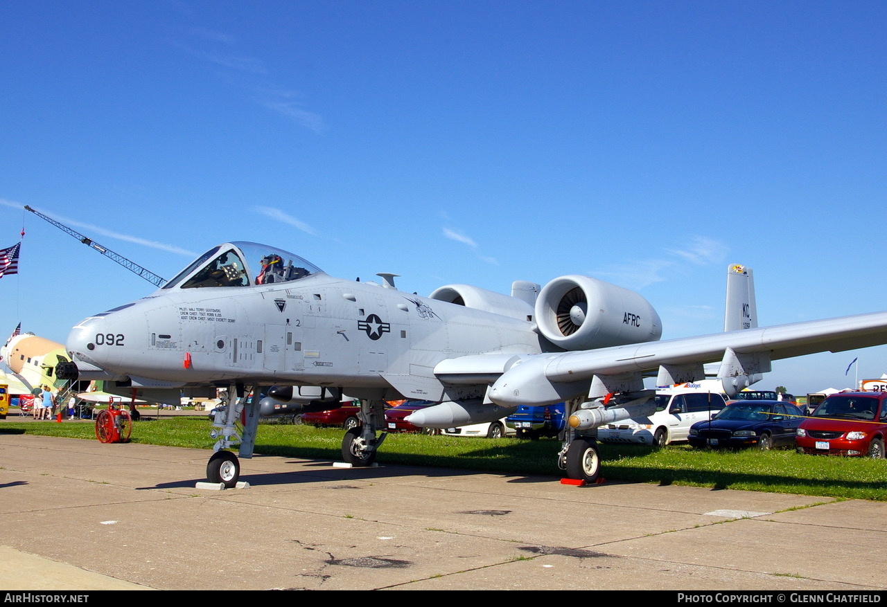
[[[884,456],[887,392],[832,394],[807,417],[795,434],[800,453]]]

